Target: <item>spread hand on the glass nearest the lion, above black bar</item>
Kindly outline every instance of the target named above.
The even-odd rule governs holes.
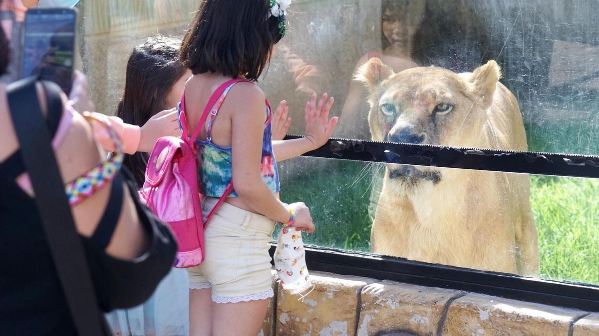
[[[337,127],[337,117],[329,120],[329,112],[335,102],[333,97],[328,100],[328,94],[323,94],[316,103],[317,95],[312,94],[312,99],[305,103],[305,138],[310,140],[313,149],[323,146]]]

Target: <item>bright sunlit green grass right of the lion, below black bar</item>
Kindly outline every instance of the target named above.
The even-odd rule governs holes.
[[[531,178],[541,277],[599,284],[599,180]]]

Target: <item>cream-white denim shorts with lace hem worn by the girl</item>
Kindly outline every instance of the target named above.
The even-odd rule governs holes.
[[[217,201],[204,200],[204,219]],[[211,288],[215,303],[273,297],[268,250],[274,224],[265,216],[222,203],[204,230],[204,261],[187,268],[189,288]]]

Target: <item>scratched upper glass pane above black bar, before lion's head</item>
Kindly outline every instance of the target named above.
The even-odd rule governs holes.
[[[342,138],[525,149],[524,124],[532,151],[599,154],[598,10],[583,0],[297,1],[262,85],[291,103],[292,132],[302,133],[307,95],[328,91]],[[479,68],[488,60],[500,85],[495,66]],[[479,71],[411,69],[429,65]]]

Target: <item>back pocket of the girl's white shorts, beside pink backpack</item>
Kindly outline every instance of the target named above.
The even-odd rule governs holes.
[[[205,238],[204,248],[206,258],[202,262],[202,271],[212,285],[232,282],[237,278],[241,240]]]

